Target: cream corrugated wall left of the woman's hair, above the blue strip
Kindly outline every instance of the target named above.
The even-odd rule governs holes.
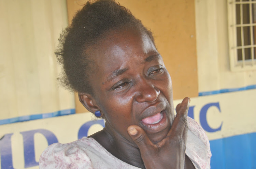
[[[0,119],[73,109],[54,51],[66,0],[0,0]]]

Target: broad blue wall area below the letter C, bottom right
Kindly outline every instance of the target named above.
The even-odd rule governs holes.
[[[255,140],[256,133],[211,140],[211,169],[255,169]]]

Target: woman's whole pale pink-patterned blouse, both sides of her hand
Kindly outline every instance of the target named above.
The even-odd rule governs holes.
[[[186,154],[198,169],[210,168],[209,140],[198,123],[188,117]],[[40,169],[138,169],[113,156],[94,138],[83,137],[68,144],[50,145],[40,156]]]

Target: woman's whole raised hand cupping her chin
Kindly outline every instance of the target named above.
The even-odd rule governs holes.
[[[156,144],[151,142],[139,126],[132,125],[128,127],[128,133],[139,147],[146,169],[184,168],[189,102],[190,98],[186,97],[181,104],[177,105],[177,115],[173,120],[170,131],[166,138]]]

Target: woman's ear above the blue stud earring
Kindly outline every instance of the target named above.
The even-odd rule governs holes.
[[[100,111],[99,107],[96,105],[96,101],[90,94],[78,93],[78,97],[80,102],[88,111],[92,113],[95,113],[98,110]]]

